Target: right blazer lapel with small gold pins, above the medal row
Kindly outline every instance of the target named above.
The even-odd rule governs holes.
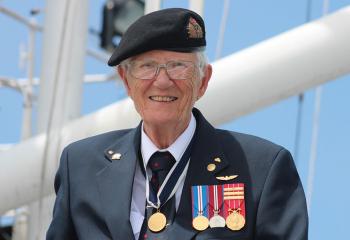
[[[216,176],[228,168],[229,164],[219,144],[216,130],[202,114],[193,109],[197,121],[195,142],[192,148],[189,168],[182,190],[180,205],[173,223],[169,240],[192,239],[198,231],[192,227],[191,186],[222,184]],[[215,169],[208,170],[208,165],[214,164]],[[176,234],[175,234],[176,233]]]

